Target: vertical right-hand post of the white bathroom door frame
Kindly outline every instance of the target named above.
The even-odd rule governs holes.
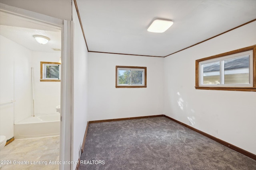
[[[62,29],[60,161],[71,161],[72,25],[72,21],[64,20]],[[60,164],[60,170],[70,170],[71,166],[72,164]]]

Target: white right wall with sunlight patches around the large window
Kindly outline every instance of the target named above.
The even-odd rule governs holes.
[[[253,154],[256,93],[194,86],[197,59],[255,45],[255,30],[256,21],[164,58],[164,113]]]

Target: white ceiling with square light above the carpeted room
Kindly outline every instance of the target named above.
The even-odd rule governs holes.
[[[76,0],[89,51],[164,57],[256,19],[256,0]],[[174,21],[164,33],[153,20]]]

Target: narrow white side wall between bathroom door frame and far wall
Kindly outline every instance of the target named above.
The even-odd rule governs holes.
[[[80,146],[88,121],[88,51],[82,34],[75,6],[72,7],[74,21],[74,53],[72,72],[72,151],[71,160],[80,158]],[[76,164],[71,165],[76,169]]]

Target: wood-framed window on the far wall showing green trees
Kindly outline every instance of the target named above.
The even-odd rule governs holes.
[[[146,67],[116,66],[116,88],[146,88]]]

